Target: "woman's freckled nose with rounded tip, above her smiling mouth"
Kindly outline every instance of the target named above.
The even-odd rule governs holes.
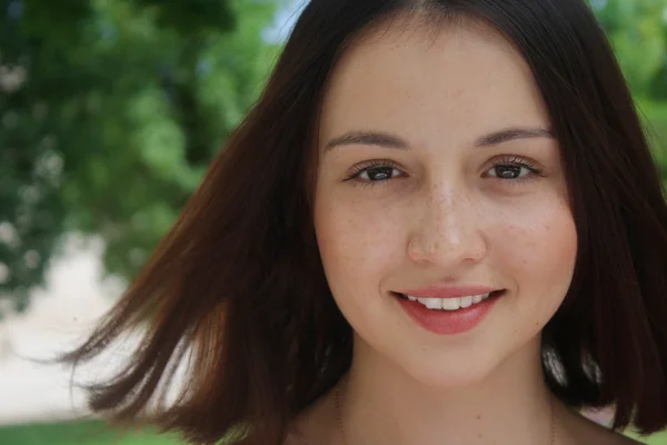
[[[455,269],[486,256],[481,211],[466,192],[434,188],[414,210],[415,226],[408,240],[412,261]]]

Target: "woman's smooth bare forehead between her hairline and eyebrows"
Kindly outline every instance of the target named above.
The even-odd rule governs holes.
[[[475,23],[436,33],[408,22],[368,31],[335,68],[321,116],[320,146],[349,130],[466,144],[499,128],[548,126],[525,60]]]

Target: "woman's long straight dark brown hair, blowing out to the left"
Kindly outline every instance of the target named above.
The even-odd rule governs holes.
[[[667,207],[624,77],[584,0],[311,0],[176,226],[64,357],[90,360],[146,327],[127,368],[89,387],[92,409],[120,423],[141,415],[193,444],[231,434],[279,444],[348,369],[351,329],[312,226],[318,113],[345,48],[401,13],[430,27],[484,22],[530,66],[561,147],[579,246],[568,296],[542,336],[547,383],[573,407],[614,404],[615,427],[667,425]],[[186,357],[179,402],[145,413]]]

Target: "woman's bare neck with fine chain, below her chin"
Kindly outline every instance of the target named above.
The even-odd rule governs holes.
[[[356,338],[352,367],[340,387],[347,445],[549,444],[550,393],[539,339],[482,382],[434,387],[411,378]]]

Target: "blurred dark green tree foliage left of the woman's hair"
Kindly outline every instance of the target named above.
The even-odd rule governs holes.
[[[261,0],[0,0],[0,297],[17,309],[68,231],[130,277],[257,97]]]

